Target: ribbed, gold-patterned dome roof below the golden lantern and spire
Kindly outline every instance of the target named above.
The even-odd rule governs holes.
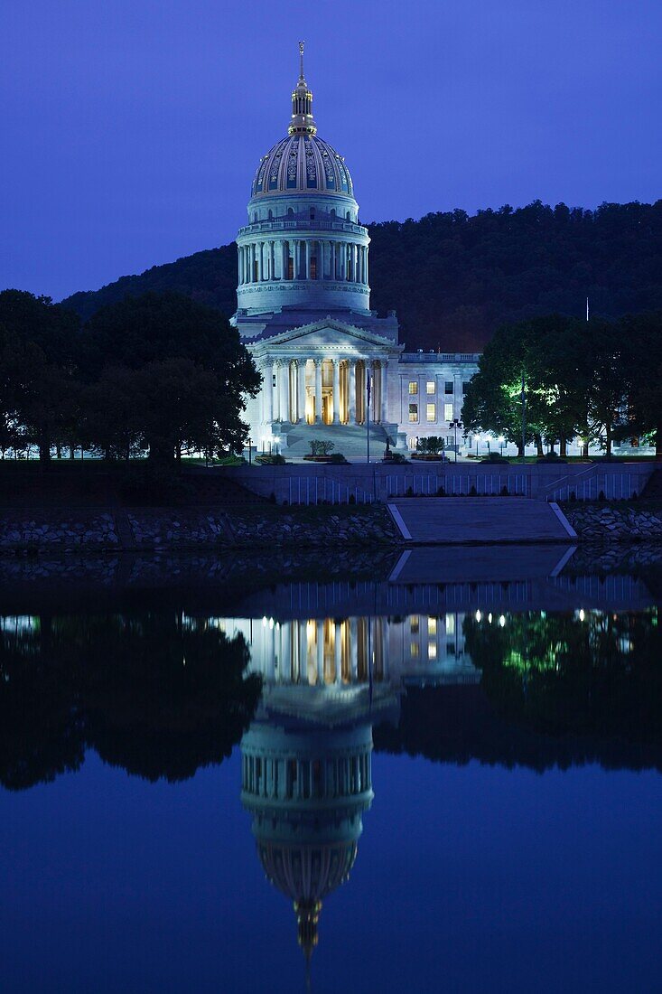
[[[342,155],[316,134],[289,134],[261,159],[251,197],[282,193],[340,193],[354,196]]]

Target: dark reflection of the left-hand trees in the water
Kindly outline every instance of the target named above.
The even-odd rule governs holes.
[[[174,612],[38,619],[0,633],[0,782],[25,787],[85,747],[148,779],[230,754],[254,712],[248,646]]]

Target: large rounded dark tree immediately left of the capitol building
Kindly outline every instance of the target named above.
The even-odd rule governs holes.
[[[245,396],[256,394],[260,377],[239,332],[218,311],[183,294],[146,293],[102,308],[84,334],[90,377],[107,383],[109,368],[135,374],[122,384],[127,396],[133,392],[131,425],[150,458],[172,460],[185,444],[212,452],[241,447]],[[105,389],[103,397],[110,400]],[[115,436],[121,417],[120,405]]]

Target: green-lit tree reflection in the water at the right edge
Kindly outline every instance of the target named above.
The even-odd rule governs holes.
[[[506,718],[537,732],[659,745],[662,631],[646,614],[467,617],[465,647]]]

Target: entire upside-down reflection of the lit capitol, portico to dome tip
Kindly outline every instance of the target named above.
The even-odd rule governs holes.
[[[477,682],[462,615],[219,619],[241,631],[261,703],[242,741],[242,802],[268,880],[294,906],[306,958],[322,901],[347,880],[373,799],[373,725],[411,683]]]

